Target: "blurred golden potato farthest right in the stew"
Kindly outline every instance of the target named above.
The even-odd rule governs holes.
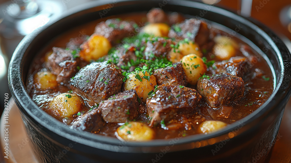
[[[214,42],[213,53],[218,59],[227,60],[235,56],[238,45],[233,39],[226,36],[216,36]]]

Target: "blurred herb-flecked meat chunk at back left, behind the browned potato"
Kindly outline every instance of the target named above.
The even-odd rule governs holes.
[[[134,36],[134,24],[136,23],[119,19],[108,19],[106,22],[97,24],[94,33],[104,36],[112,45],[116,45],[124,37]]]

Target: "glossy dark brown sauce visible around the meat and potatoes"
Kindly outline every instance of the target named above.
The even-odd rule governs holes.
[[[90,36],[93,33],[97,23],[105,21],[109,18],[116,17],[120,17],[121,19],[124,20],[134,20],[140,27],[145,25],[145,22],[147,21],[145,13],[140,13],[140,14],[111,16],[94,22],[90,22],[86,25],[77,27],[64,33],[61,36],[56,37],[49,43],[49,45],[47,45],[43,52],[36,57],[36,59],[31,64],[30,72],[28,75],[28,81],[26,85],[32,99],[38,104],[38,106],[42,110],[46,111],[48,114],[50,114],[51,116],[65,124],[70,124],[72,120],[77,117],[77,115],[74,115],[72,118],[60,118],[56,116],[53,113],[52,109],[48,107],[48,103],[54,97],[56,97],[56,95],[70,91],[68,87],[59,84],[58,87],[56,87],[54,90],[45,91],[39,91],[33,87],[33,76],[44,67],[43,64],[46,59],[45,58],[46,53],[51,52],[52,47],[65,47],[65,44],[69,42],[70,38],[76,37],[78,38],[84,34]],[[208,23],[211,24],[211,22]],[[217,34],[228,36],[228,33],[214,28],[211,29],[211,33],[212,34],[210,35],[210,37],[214,37]],[[244,97],[236,102],[229,104],[226,107],[224,106],[217,109],[209,107],[206,101],[202,99],[198,106],[199,108],[197,109],[197,113],[194,116],[192,117],[177,116],[176,118],[171,120],[170,124],[166,126],[168,130],[165,130],[160,125],[153,127],[153,130],[155,130],[156,133],[155,139],[174,138],[177,137],[178,134],[182,134],[183,136],[198,134],[199,124],[206,120],[218,120],[227,124],[233,123],[251,114],[254,110],[260,107],[269,98],[274,89],[273,88],[274,79],[272,71],[269,68],[269,65],[263,59],[262,56],[260,56],[257,52],[251,49],[251,47],[246,45],[246,43],[242,42],[239,38],[235,38],[233,36],[232,38],[240,45],[240,47],[244,47],[240,48],[241,51],[236,52],[236,56],[244,56],[242,54],[242,52],[244,52],[244,54],[255,56],[255,58],[258,61],[256,63],[253,63],[253,67],[251,68],[250,71],[250,73],[252,74],[251,77],[244,80],[245,82]],[[206,56],[208,60],[212,60],[211,55],[204,56]],[[254,77],[255,75],[258,74],[264,75],[264,77],[267,77],[268,80],[266,80],[266,78],[263,79],[262,77]],[[187,87],[196,89],[196,86],[187,85]],[[90,102],[88,102],[88,100],[84,99],[83,107],[84,112],[88,111],[92,107],[90,106],[89,103]],[[232,107],[231,112],[229,107]],[[148,123],[149,121],[145,114],[146,113],[145,104],[140,105],[139,112],[142,114],[136,119],[136,121]],[[93,133],[115,137],[114,133],[120,125],[122,124],[104,123],[104,127],[101,127],[100,130],[93,131]]]

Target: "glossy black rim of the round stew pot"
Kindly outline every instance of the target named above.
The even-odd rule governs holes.
[[[130,3],[148,3],[148,1],[145,0],[116,0],[115,4],[121,4],[123,2],[130,2]],[[161,0],[151,0],[151,3],[158,3],[161,2]],[[19,43],[17,48],[15,49],[15,52],[13,53],[12,59],[9,64],[8,68],[8,83],[10,92],[12,94],[12,97],[19,107],[19,109],[22,111],[22,114],[24,114],[26,117],[30,118],[31,120],[36,121],[43,127],[47,128],[48,130],[54,132],[55,134],[65,137],[66,139],[69,139],[71,141],[75,141],[87,146],[91,146],[94,148],[104,149],[104,150],[112,150],[111,148],[107,148],[104,146],[106,145],[112,145],[112,146],[118,146],[120,144],[120,140],[113,138],[113,137],[107,137],[102,136],[98,134],[92,134],[90,132],[80,132],[76,130],[70,129],[68,126],[65,126],[63,123],[59,122],[49,114],[47,114],[45,111],[41,110],[35,102],[31,99],[29,96],[24,81],[23,81],[23,56],[26,52],[27,48],[30,46],[30,43],[33,41],[34,38],[38,36],[39,33],[45,32],[48,28],[53,26],[54,23],[66,19],[68,17],[74,17],[74,15],[78,13],[90,13],[94,8],[97,6],[102,6],[109,4],[106,0],[101,1],[91,1],[84,6],[78,6],[79,9],[74,8],[74,11],[70,11],[67,14],[63,15],[60,19],[51,22],[47,25],[45,25],[43,28],[40,28],[39,30],[34,31],[33,33],[27,35],[24,37],[24,39]],[[198,9],[205,9],[205,6],[207,4],[194,2],[194,1],[187,1],[187,0],[180,0],[180,1],[168,1],[167,5],[178,5],[181,7],[187,6],[192,8],[198,8]],[[99,10],[100,11],[100,10]],[[253,122],[256,118],[262,116],[268,111],[271,111],[272,109],[275,109],[276,106],[284,105],[287,102],[287,99],[290,97],[290,88],[291,88],[291,64],[289,61],[291,61],[290,52],[288,51],[285,44],[278,40],[278,42],[274,42],[272,40],[272,37],[277,37],[271,30],[269,30],[267,27],[259,23],[255,20],[248,20],[249,18],[244,18],[242,16],[239,16],[235,13],[232,13],[228,10],[212,6],[211,11],[214,13],[218,13],[221,15],[227,15],[228,18],[237,20],[239,22],[242,22],[242,24],[247,25],[251,29],[258,32],[259,35],[261,35],[267,42],[270,44],[271,48],[274,50],[277,55],[278,60],[280,62],[280,75],[278,82],[276,84],[276,88],[274,89],[274,92],[269,97],[269,99],[262,104],[261,107],[253,111],[253,113],[249,114],[248,116],[240,119],[239,121],[236,121],[230,125],[227,125],[224,129],[221,129],[217,132],[210,133],[210,134],[196,134],[196,135],[190,135],[187,137],[183,137],[177,142],[177,144],[184,144],[184,143],[191,143],[201,140],[206,140],[214,137],[219,137],[224,134],[228,134],[231,130],[234,130],[236,127],[238,127],[241,124],[249,124]],[[94,11],[95,12],[95,11]],[[126,13],[129,13],[126,11]],[[254,22],[254,23],[253,23]],[[257,25],[256,25],[257,24]],[[274,81],[276,82],[276,81]],[[284,103],[282,103],[284,102]],[[79,137],[82,135],[81,137]],[[157,139],[147,142],[127,142],[126,146],[128,147],[157,147],[157,146],[167,146],[169,145],[169,141],[167,139]]]

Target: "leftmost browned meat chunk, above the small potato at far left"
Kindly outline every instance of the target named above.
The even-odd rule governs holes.
[[[76,51],[53,47],[53,53],[48,57],[48,67],[57,75],[58,83],[67,83],[77,72],[80,60]]]

